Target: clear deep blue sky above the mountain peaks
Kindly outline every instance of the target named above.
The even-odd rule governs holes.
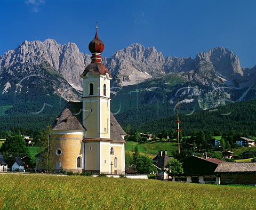
[[[88,44],[98,35],[102,56],[132,43],[156,47],[166,57],[195,58],[227,47],[242,67],[256,64],[256,0],[1,0],[0,55],[27,41],[55,39]]]

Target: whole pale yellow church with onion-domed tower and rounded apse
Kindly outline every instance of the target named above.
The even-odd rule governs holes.
[[[124,174],[126,133],[110,111],[110,80],[102,63],[104,44],[96,34],[89,44],[91,63],[83,79],[81,102],[68,102],[51,130],[54,171]]]

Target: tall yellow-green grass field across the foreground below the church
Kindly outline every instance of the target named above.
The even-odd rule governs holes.
[[[255,209],[255,187],[36,174],[0,180],[1,209]]]

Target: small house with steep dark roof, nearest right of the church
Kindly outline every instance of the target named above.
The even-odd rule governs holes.
[[[158,173],[156,174],[157,180],[168,180],[169,175],[166,173],[166,165],[167,161],[171,158],[167,156],[167,151],[158,151],[158,155],[153,158],[153,164],[158,169]]]

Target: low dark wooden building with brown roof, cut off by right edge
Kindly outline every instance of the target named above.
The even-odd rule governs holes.
[[[256,163],[220,163],[215,173],[221,184],[256,184]]]

